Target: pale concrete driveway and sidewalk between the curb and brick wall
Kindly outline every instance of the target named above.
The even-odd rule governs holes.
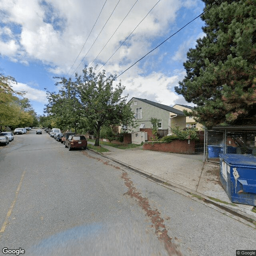
[[[219,164],[203,162],[202,155],[142,150],[142,146],[139,145],[138,148],[127,150],[101,146],[110,150],[101,154],[115,162],[166,182],[189,194],[195,194],[242,218],[256,221],[256,214],[251,211],[253,206],[232,204],[220,183]]]

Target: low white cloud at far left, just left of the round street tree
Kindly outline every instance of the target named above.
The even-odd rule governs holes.
[[[24,95],[24,97],[28,98],[29,100],[34,100],[41,103],[48,102],[46,99],[46,92],[44,92],[43,90],[38,90],[32,88],[31,86],[28,86],[27,84],[22,83],[12,83],[12,88],[16,91],[25,91],[26,94]]]

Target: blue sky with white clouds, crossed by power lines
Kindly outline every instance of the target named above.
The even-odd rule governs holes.
[[[0,0],[0,73],[16,79],[14,89],[26,91],[38,114],[43,114],[47,104],[44,88],[58,90],[54,76],[68,78],[75,70],[81,74],[84,65],[91,64],[114,34],[92,64],[100,69],[158,2],[107,0],[104,5],[105,1]],[[203,8],[200,0],[160,0],[104,66],[106,73],[121,74],[202,13]],[[137,97],[168,106],[190,105],[174,92],[174,86],[186,75],[182,64],[196,39],[204,36],[202,26],[198,18],[122,74],[118,79],[126,86],[124,95],[129,94],[128,100]]]

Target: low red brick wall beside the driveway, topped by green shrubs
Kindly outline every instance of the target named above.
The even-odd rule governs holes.
[[[195,141],[190,140],[190,144],[188,144],[188,140],[173,140],[170,143],[144,143],[143,149],[180,154],[194,154]]]

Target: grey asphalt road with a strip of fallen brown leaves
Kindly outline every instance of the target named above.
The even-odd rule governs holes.
[[[15,136],[0,156],[1,250],[232,256],[256,249],[255,229],[89,150],[68,151],[44,132]]]

